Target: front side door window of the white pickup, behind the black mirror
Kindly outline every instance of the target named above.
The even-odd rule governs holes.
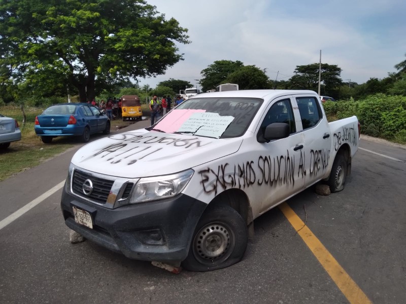
[[[296,132],[295,121],[293,118],[292,105],[290,99],[284,99],[273,104],[267,111],[260,127],[261,134],[265,128],[272,123],[285,123],[289,125],[290,133]]]

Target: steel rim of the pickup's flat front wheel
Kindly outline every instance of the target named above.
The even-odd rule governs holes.
[[[218,264],[226,260],[235,246],[235,236],[223,222],[203,226],[193,239],[193,255],[202,264]]]

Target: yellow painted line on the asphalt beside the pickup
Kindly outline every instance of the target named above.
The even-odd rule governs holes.
[[[298,235],[313,252],[323,268],[329,274],[337,287],[340,288],[341,292],[343,292],[350,303],[372,303],[365,293],[363,293],[361,288],[359,288],[359,286],[353,281],[353,279],[351,279],[347,272],[331,255],[331,253],[328,252],[319,239],[312,233],[308,226],[304,225],[303,221],[289,207],[289,205],[287,203],[283,203],[279,205],[279,209],[283,212],[290,224],[297,231]]]

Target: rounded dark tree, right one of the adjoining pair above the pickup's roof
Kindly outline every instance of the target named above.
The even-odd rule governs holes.
[[[239,90],[269,89],[265,71],[255,65],[242,66],[228,74],[225,82],[239,85]]]

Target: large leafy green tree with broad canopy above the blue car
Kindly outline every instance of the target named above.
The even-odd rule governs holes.
[[[73,84],[81,101],[164,73],[183,60],[175,43],[190,43],[187,29],[144,0],[11,0],[0,20],[0,66],[19,82]]]

